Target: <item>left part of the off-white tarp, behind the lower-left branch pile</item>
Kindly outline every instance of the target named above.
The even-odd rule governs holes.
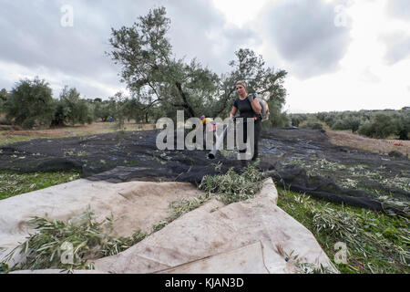
[[[145,233],[168,216],[169,203],[202,194],[190,183],[107,183],[84,179],[62,183],[0,201],[0,250],[2,256],[24,242],[33,229],[30,217],[67,221],[89,208],[97,222],[114,217],[114,235]]]

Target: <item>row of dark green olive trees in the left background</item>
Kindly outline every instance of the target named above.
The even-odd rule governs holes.
[[[24,129],[90,124],[110,118],[148,122],[141,108],[136,99],[122,98],[121,93],[106,100],[81,99],[77,89],[68,86],[54,99],[46,80],[37,77],[20,80],[10,92],[0,90],[0,114],[5,116],[1,122]]]

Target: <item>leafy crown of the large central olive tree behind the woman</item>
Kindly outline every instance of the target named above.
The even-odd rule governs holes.
[[[229,62],[231,72],[218,76],[195,58],[186,63],[173,56],[166,37],[169,27],[166,10],[160,7],[139,16],[133,26],[111,29],[112,51],[108,55],[121,65],[121,81],[127,84],[144,115],[175,118],[177,110],[184,110],[186,118],[202,114],[227,116],[239,79],[246,79],[249,92],[266,99],[280,113],[286,96],[286,71],[266,68],[261,56],[241,48]],[[271,117],[272,123],[278,120]]]

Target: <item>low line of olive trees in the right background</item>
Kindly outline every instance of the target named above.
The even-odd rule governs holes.
[[[290,114],[292,126],[322,129],[323,123],[332,130],[352,130],[371,138],[396,136],[408,140],[410,108],[402,110],[331,111],[314,114]],[[322,122],[322,123],[321,123]]]

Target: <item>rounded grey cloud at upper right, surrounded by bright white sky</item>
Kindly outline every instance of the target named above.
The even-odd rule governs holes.
[[[336,7],[321,0],[286,0],[272,5],[263,17],[265,35],[299,78],[338,68],[350,43],[350,28]],[[335,26],[336,16],[345,17],[347,26]]]

